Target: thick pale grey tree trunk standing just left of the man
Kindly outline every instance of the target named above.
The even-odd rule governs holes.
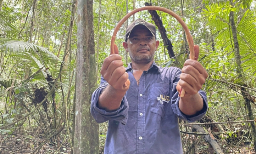
[[[92,4],[78,0],[74,154],[99,153],[99,125],[90,112],[97,87]]]

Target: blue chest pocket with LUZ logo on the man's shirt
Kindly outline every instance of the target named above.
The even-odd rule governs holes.
[[[162,119],[166,118],[166,114],[173,114],[169,88],[168,83],[150,85],[150,112],[160,115]]]

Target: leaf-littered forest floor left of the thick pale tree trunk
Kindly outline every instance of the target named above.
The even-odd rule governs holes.
[[[4,136],[0,134],[0,154],[36,154],[36,148],[45,141],[44,135],[37,130],[39,129],[16,130],[11,135]],[[40,148],[38,154],[70,154],[68,137],[64,138],[48,141]]]

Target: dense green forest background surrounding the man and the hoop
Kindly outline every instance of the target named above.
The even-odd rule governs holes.
[[[168,8],[185,21],[209,74],[203,86],[207,115],[197,125],[180,121],[184,153],[253,153],[255,1],[0,0],[1,154],[103,153],[108,123],[97,125],[91,118],[90,96],[115,26],[145,3]],[[182,68],[189,57],[184,30],[169,14],[156,13],[165,31],[158,27],[154,59]],[[122,25],[115,43],[125,66],[130,61],[122,47],[125,29],[138,17],[155,23],[142,11]],[[82,147],[91,152],[79,151]]]

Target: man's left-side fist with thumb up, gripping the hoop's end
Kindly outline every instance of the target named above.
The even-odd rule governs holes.
[[[115,90],[127,91],[130,86],[128,73],[125,72],[122,57],[118,55],[116,45],[114,46],[114,50],[115,54],[104,59],[100,73]]]

